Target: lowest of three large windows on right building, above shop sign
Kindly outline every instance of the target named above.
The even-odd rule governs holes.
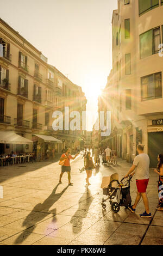
[[[152,100],[162,97],[161,72],[141,78],[142,100]]]

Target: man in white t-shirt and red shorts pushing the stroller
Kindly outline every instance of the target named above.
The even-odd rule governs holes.
[[[139,216],[151,218],[152,215],[151,212],[149,212],[148,198],[146,194],[149,181],[149,156],[144,153],[144,146],[142,144],[137,145],[136,150],[139,155],[135,156],[133,165],[129,169],[128,173],[125,175],[126,178],[129,174],[134,175],[135,173],[137,186],[137,196],[135,199],[135,203],[134,205],[129,205],[128,209],[134,213],[136,205],[139,203],[140,198],[142,197],[146,211]]]

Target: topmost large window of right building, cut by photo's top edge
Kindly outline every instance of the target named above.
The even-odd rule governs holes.
[[[159,0],[139,0],[139,15],[159,7]]]

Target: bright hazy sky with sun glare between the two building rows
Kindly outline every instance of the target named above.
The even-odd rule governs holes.
[[[1,1],[1,19],[18,31],[87,98],[87,130],[112,68],[112,11],[117,0]]]

